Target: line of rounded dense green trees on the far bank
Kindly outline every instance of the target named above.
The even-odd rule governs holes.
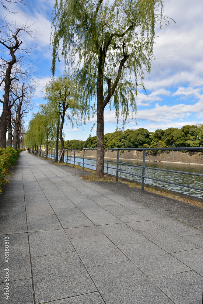
[[[53,145],[54,147],[54,145]],[[66,149],[96,148],[96,136],[87,140],[66,140]],[[203,125],[186,125],[182,128],[147,129],[115,131],[104,135],[105,148],[164,148],[164,147],[203,147]]]

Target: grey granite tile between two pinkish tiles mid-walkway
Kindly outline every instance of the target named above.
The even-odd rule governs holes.
[[[147,241],[140,233],[133,230],[126,224],[113,224],[98,226],[98,228],[110,239],[115,245],[129,244]]]

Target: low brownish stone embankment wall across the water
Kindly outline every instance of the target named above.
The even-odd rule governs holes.
[[[73,154],[73,150],[72,150]],[[83,150],[76,152],[75,155],[83,157]],[[105,152],[107,157],[108,152]],[[131,151],[124,150],[121,159],[130,160],[142,160],[142,151]],[[96,157],[96,150],[85,150],[85,156]],[[117,151],[109,150],[109,158],[117,158]],[[203,165],[203,152],[181,152],[181,151],[170,151],[170,152],[159,152],[157,154],[146,153],[147,161],[163,161],[163,162],[177,162],[186,164],[202,164]]]

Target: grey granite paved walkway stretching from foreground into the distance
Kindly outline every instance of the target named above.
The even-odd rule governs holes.
[[[201,209],[27,152],[13,172],[0,204],[0,303],[202,303]]]

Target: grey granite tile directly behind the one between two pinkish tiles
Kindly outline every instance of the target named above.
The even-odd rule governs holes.
[[[86,216],[95,224],[95,225],[107,225],[107,224],[116,224],[122,223],[120,219],[117,219],[108,211],[96,211],[96,212],[86,212]]]

